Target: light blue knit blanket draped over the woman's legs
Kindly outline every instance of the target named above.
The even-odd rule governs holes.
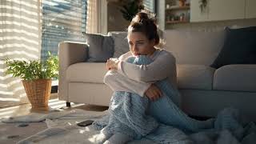
[[[142,65],[150,64],[152,60],[141,55],[128,58],[126,62]],[[134,139],[144,137],[158,143],[190,143],[188,134],[218,128],[237,130],[240,126],[234,109],[224,110],[217,119],[198,121],[190,118],[172,101],[172,97],[179,94],[174,86],[166,79],[155,85],[162,90],[162,97],[154,102],[138,94],[114,92],[110,99],[109,114],[94,122],[94,129],[101,130],[106,135],[122,133]]]

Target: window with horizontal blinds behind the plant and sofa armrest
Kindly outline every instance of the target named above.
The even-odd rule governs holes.
[[[42,60],[58,54],[59,42],[85,41],[86,8],[86,0],[42,0]]]

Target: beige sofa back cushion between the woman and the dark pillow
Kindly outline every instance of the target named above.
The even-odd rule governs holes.
[[[224,30],[165,30],[165,49],[174,54],[178,64],[210,66],[221,50]]]

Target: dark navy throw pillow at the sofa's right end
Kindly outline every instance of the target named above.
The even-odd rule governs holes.
[[[226,40],[211,67],[218,69],[230,64],[256,64],[256,26],[226,27]]]

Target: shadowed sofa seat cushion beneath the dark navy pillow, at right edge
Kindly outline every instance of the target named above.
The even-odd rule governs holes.
[[[214,73],[214,90],[256,92],[256,65],[226,65]]]

